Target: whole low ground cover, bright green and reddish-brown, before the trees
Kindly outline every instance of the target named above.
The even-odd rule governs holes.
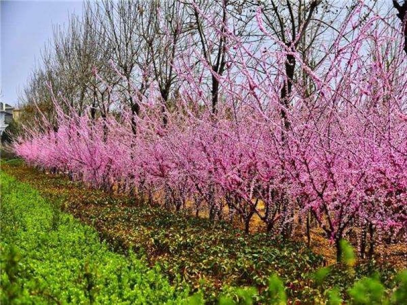
[[[396,276],[387,265],[326,268],[301,242],[136,205],[18,161],[3,170],[3,300],[201,303],[188,297],[198,292],[209,303],[228,296],[222,304],[364,303],[356,297],[369,289],[379,289],[381,300],[407,289],[407,273]]]

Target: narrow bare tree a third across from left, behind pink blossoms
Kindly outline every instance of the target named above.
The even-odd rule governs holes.
[[[139,114],[139,99],[146,93],[150,74],[152,56],[142,39],[144,35],[149,35],[153,23],[153,20],[146,17],[148,7],[147,0],[104,0],[97,2],[94,9],[96,20],[111,51],[106,60],[111,59],[124,78],[120,86],[127,96],[133,116]],[[132,130],[136,134],[134,119]]]

